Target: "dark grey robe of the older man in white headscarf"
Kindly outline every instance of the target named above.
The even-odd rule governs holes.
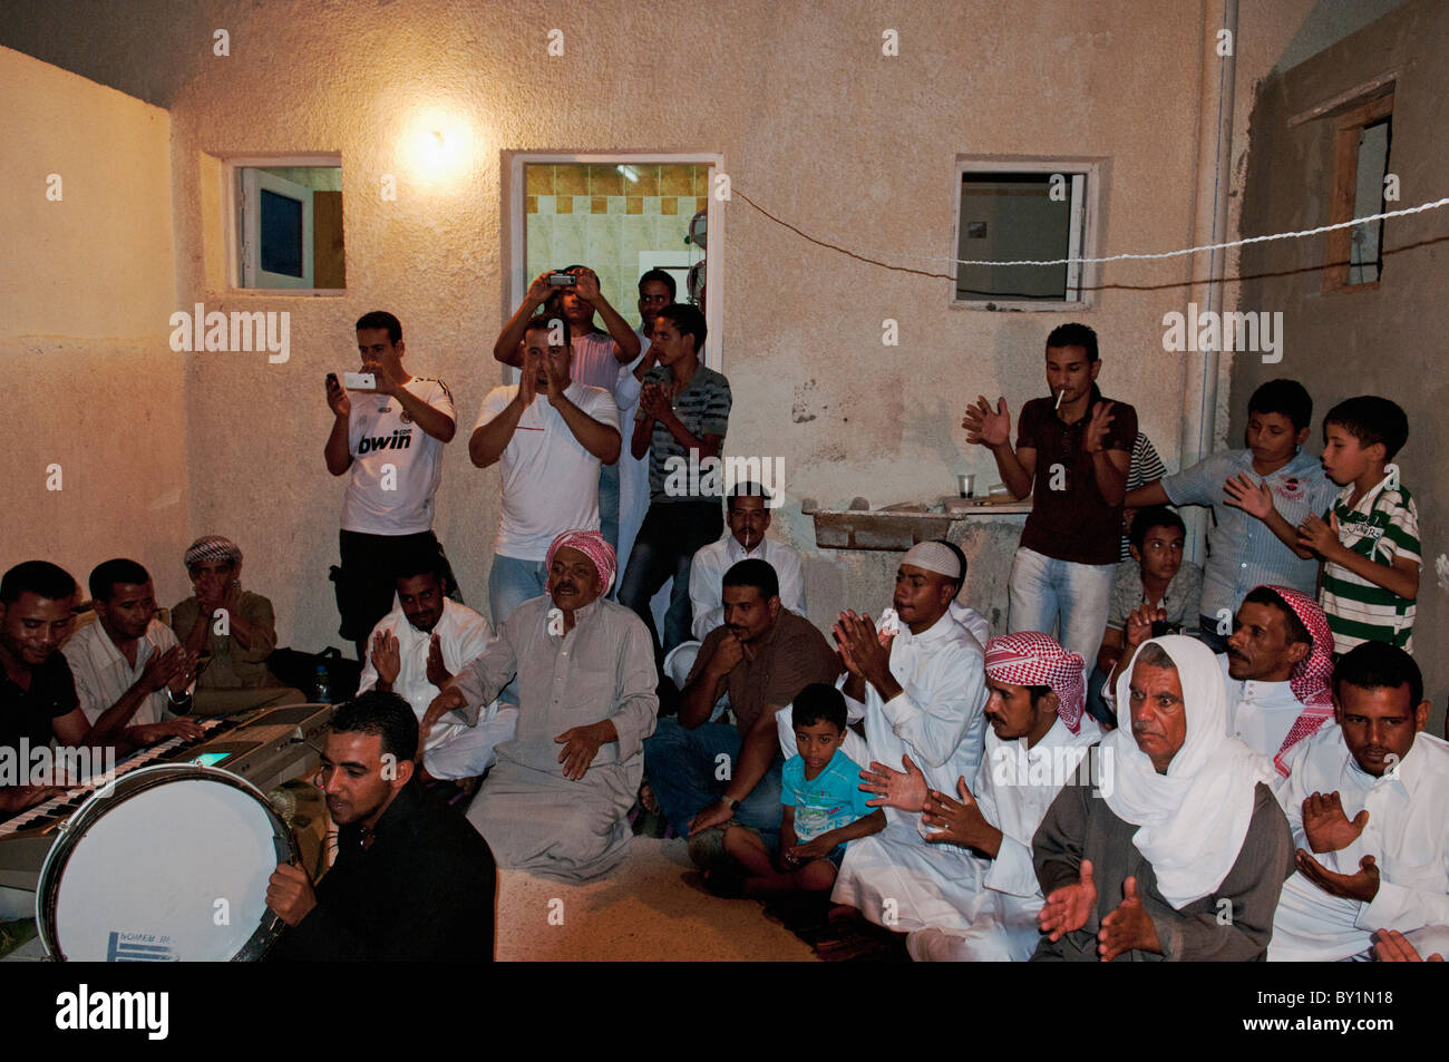
[[[1258,782],[1248,836],[1227,877],[1217,890],[1175,910],[1158,892],[1152,864],[1143,859],[1132,835],[1137,827],[1119,819],[1107,801],[1094,797],[1091,785],[1065,785],[1046,811],[1032,840],[1032,861],[1042,895],[1078,879],[1082,859],[1090,859],[1097,884],[1097,908],[1087,924],[1052,943],[1045,935],[1036,946],[1037,959],[1097,962],[1097,933],[1101,920],[1122,903],[1122,884],[1137,879],[1137,895],[1158,932],[1162,953],[1132,950],[1117,962],[1171,961],[1262,961],[1272,936],[1272,916],[1282,882],[1294,871],[1293,835],[1272,790]],[[1230,923],[1222,900],[1232,901]]]

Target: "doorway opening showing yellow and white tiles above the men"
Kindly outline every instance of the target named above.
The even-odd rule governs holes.
[[[639,325],[639,275],[662,268],[675,298],[691,301],[703,264],[709,338],[704,364],[720,368],[723,212],[710,194],[716,155],[514,155],[510,167],[510,291],[504,317],[545,269],[587,265],[610,304]],[[707,226],[696,220],[703,214]],[[691,232],[696,233],[691,236]]]

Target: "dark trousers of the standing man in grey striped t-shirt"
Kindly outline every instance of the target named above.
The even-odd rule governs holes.
[[[619,582],[619,604],[632,609],[649,627],[655,662],[662,668],[665,655],[688,642],[693,635],[694,609],[690,604],[690,566],[700,546],[719,540],[724,516],[717,500],[653,503],[629,555],[629,568]],[[653,626],[652,598],[665,580],[674,577],[669,611],[664,616],[664,645]]]

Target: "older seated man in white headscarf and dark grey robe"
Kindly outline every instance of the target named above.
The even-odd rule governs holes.
[[[1262,959],[1293,839],[1272,764],[1226,733],[1213,651],[1146,642],[1117,704],[1123,726],[1098,746],[1110,785],[1064,785],[1032,840],[1046,897],[1032,958]]]

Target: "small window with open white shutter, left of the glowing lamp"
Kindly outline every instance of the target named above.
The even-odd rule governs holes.
[[[233,159],[235,285],[339,291],[346,287],[342,167],[301,159]]]

